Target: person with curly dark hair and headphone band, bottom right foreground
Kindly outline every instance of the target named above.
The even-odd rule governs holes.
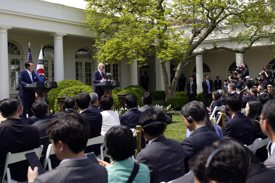
[[[275,170],[266,168],[256,156],[233,138],[223,138],[190,160],[195,182],[273,182]]]

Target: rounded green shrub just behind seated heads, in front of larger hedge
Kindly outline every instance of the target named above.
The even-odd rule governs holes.
[[[93,87],[90,85],[76,85],[76,86],[66,87],[59,92],[57,97],[62,97],[63,94],[65,94],[67,97],[72,96],[75,98],[78,94],[82,92],[86,92],[88,94],[92,93]],[[75,112],[77,112],[77,110],[78,110],[77,108],[74,109]],[[60,107],[57,103],[57,100],[55,99],[54,106],[53,106],[53,114],[60,111],[61,111]]]

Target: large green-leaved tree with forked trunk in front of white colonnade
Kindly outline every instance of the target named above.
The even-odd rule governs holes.
[[[147,55],[157,55],[164,77],[166,100],[175,94],[180,73],[195,56],[225,49],[244,53],[264,38],[273,43],[273,0],[85,0],[87,24],[97,36],[95,58],[115,63],[146,65]],[[172,22],[182,28],[175,29]],[[245,31],[230,36],[243,23]],[[232,25],[228,29],[228,26]],[[227,34],[230,42],[244,44],[242,50],[217,46],[195,49],[207,38]],[[165,62],[178,63],[169,86]]]

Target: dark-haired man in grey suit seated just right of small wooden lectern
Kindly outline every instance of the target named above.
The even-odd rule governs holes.
[[[141,112],[143,112],[144,110],[148,109],[149,107],[153,107],[154,110],[156,111],[162,111],[165,115],[165,122],[166,124],[171,124],[172,123],[172,119],[170,118],[170,116],[168,116],[164,111],[163,108],[160,106],[153,106],[152,102],[153,102],[153,96],[152,94],[150,94],[149,92],[146,92],[143,94],[142,98],[142,103],[143,103],[143,107],[138,108],[138,110],[140,110]]]

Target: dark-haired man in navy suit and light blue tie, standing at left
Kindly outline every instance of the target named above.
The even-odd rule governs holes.
[[[36,77],[36,73],[34,72],[34,64],[32,61],[27,61],[25,63],[25,67],[26,70],[20,71],[18,74],[18,82],[20,84],[19,96],[23,104],[22,116],[27,117],[26,111],[28,110],[28,117],[31,117],[33,116],[32,104],[35,101],[35,92],[33,89],[26,89],[25,86],[40,80]]]

